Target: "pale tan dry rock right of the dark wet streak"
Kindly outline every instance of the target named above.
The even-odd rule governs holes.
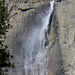
[[[63,75],[75,75],[75,1],[58,3],[59,45],[63,60]]]

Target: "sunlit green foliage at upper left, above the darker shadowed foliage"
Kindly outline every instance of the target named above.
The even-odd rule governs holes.
[[[5,35],[7,25],[6,20],[8,17],[8,10],[7,7],[5,7],[5,0],[0,1],[0,35]]]

